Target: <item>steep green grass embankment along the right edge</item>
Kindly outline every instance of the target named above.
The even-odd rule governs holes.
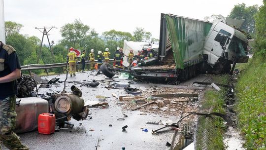
[[[266,58],[254,56],[236,84],[239,126],[248,150],[266,150]]]

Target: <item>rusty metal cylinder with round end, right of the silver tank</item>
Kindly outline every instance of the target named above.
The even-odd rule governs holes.
[[[61,93],[56,95],[54,107],[61,113],[80,113],[84,110],[84,100],[72,93]]]

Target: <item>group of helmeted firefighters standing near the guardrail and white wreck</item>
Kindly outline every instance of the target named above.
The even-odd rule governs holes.
[[[102,59],[104,59],[105,63],[110,62],[110,52],[109,48],[105,48],[105,51],[102,53],[101,51],[98,51],[97,55],[97,63],[95,64],[95,54],[94,49],[91,49],[91,52],[89,54],[89,60],[90,63],[90,69],[91,70],[97,70],[102,65]],[[123,68],[123,57],[127,56],[123,53],[123,48],[117,47],[116,52],[114,53],[114,67],[115,68]],[[133,54],[133,50],[130,50],[129,55],[127,56],[129,59],[129,63],[131,66],[136,66],[140,60],[142,59],[149,59],[150,57],[153,57],[154,53],[153,51],[148,48],[146,52],[144,50],[138,51],[137,55]],[[70,47],[69,52],[67,54],[68,59],[68,65],[69,65],[69,74],[70,76],[76,75],[76,62],[77,62],[77,55],[74,52],[74,48]],[[82,54],[80,55],[80,62],[82,64],[82,72],[85,70],[85,50],[82,51]]]

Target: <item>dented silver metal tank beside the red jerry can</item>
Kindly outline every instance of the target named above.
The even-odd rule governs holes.
[[[19,102],[20,101],[20,102]],[[23,133],[36,130],[38,127],[38,116],[48,112],[48,101],[37,98],[16,99],[16,129],[15,133]]]

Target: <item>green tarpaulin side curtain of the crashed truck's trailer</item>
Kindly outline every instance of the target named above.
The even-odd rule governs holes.
[[[204,40],[212,23],[166,14],[167,30],[171,39],[176,69],[184,64],[197,64],[202,56]]]

